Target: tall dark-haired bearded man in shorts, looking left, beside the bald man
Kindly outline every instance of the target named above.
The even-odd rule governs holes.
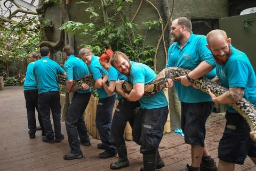
[[[187,165],[187,170],[216,171],[217,166],[205,143],[205,122],[212,113],[213,102],[207,93],[191,86],[191,82],[201,76],[214,78],[215,61],[205,46],[206,37],[194,35],[191,30],[192,24],[187,18],[173,20],[171,34],[174,43],[168,50],[166,66],[191,70],[186,76],[175,78],[179,81],[174,82],[181,101],[181,129],[185,134],[185,143],[191,145],[191,165]],[[170,81],[167,79],[168,87],[172,85]]]

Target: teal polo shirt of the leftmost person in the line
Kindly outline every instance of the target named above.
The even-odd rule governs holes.
[[[24,90],[37,90],[35,77],[33,74],[35,62],[30,62],[27,66],[26,79],[23,84]]]

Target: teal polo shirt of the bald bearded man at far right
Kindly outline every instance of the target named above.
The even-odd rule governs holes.
[[[245,53],[230,46],[231,55],[228,61],[216,64],[216,72],[222,86],[244,88],[244,98],[256,105],[256,76],[253,67]],[[235,109],[227,106],[228,112],[237,113]]]

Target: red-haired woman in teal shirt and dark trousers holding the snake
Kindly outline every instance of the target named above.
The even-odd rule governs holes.
[[[112,55],[113,51],[107,49],[100,56],[100,64],[102,65],[103,69],[108,71],[108,75],[105,75],[102,79],[102,85],[109,96],[115,93],[117,80],[128,80],[125,75],[121,74],[115,69],[115,67],[111,66],[110,57]],[[106,84],[107,81],[109,82],[109,86]],[[127,121],[131,126],[133,126],[135,109],[140,106],[138,101],[129,101],[119,94],[117,95],[117,99],[119,100],[119,103],[116,107],[115,114],[112,119],[110,137],[111,143],[116,146],[119,158],[115,163],[110,165],[111,169],[121,169],[123,167],[129,166],[130,164],[129,159],[127,158],[127,149],[125,146],[123,134]],[[135,137],[137,136],[134,136],[134,138]],[[139,140],[133,140],[140,144]]]

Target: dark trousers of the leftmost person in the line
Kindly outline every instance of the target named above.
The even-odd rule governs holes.
[[[34,134],[36,132],[36,110],[37,117],[40,126],[43,127],[43,121],[41,118],[41,114],[38,110],[38,90],[24,90],[24,96],[26,100],[26,108],[27,108],[27,119],[28,119],[28,133]],[[35,110],[36,109],[36,110]],[[44,130],[42,130],[44,131]]]

